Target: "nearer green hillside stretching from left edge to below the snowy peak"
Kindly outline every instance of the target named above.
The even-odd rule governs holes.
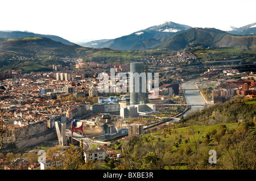
[[[109,48],[86,48],[80,45],[65,45],[44,37],[5,39],[0,37],[0,71],[23,69],[52,71],[52,64],[74,65],[75,60],[104,62],[104,64],[127,64],[142,57],[170,53],[168,50],[150,52],[122,51]]]

